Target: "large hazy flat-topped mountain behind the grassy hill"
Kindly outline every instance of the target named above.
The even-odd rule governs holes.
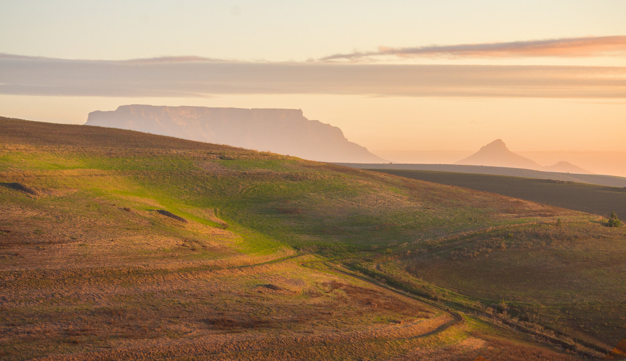
[[[305,118],[300,109],[133,104],[115,111],[93,111],[85,124],[269,150],[317,161],[384,161],[367,148],[348,141],[336,126]]]

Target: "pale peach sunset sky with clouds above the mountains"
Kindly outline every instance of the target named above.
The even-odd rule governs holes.
[[[11,1],[0,115],[302,109],[370,150],[626,151],[626,1]]]

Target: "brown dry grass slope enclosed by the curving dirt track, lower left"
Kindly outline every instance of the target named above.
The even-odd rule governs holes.
[[[44,359],[203,357],[242,350],[255,358],[264,350],[292,348],[320,348],[316,352],[324,358],[334,352],[332,345],[367,349],[449,321],[419,302],[290,261],[225,270],[26,278],[4,282],[3,295],[0,350],[8,360],[54,353],[71,355]]]

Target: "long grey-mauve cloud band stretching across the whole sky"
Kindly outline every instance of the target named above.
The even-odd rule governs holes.
[[[360,94],[626,98],[626,67],[245,63],[0,56],[0,94],[210,97]]]

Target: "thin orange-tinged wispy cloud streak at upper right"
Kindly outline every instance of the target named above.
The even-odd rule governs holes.
[[[389,48],[379,46],[377,51],[334,54],[319,60],[361,59],[377,56],[424,56],[442,58],[515,58],[531,56],[586,57],[626,55],[626,36],[595,36],[510,43],[458,44],[448,46],[420,46],[416,48]]]

